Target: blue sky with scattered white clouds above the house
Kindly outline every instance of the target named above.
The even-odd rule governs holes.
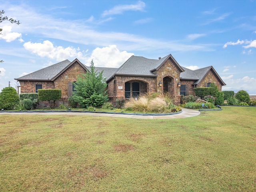
[[[172,54],[213,66],[222,90],[256,95],[256,0],[0,0],[0,90],[62,60],[119,67],[130,56]]]

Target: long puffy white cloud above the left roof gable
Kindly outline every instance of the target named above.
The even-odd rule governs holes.
[[[37,54],[41,57],[48,57],[51,59],[56,59],[58,61],[66,60],[68,58],[78,58],[85,59],[86,55],[80,52],[79,48],[67,47],[63,48],[62,46],[55,46],[49,40],[44,41],[43,43],[32,43],[26,42],[23,44],[26,50],[31,51],[34,54]]]

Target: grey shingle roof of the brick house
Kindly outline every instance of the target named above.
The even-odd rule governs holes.
[[[159,69],[162,64],[168,59],[171,58],[176,64],[177,68],[180,70],[180,79],[181,80],[194,80],[193,84],[198,84],[202,78],[208,73],[209,70],[213,70],[217,78],[223,85],[226,85],[217,72],[212,66],[201,68],[198,70],[190,70],[185,67],[181,67],[176,60],[172,57],[171,54],[156,59],[148,59],[141,56],[131,56],[120,68],[105,68],[105,67],[95,67],[98,72],[103,70],[103,77],[106,78],[107,82],[114,75],[133,75],[133,76],[156,76],[152,71]],[[69,60],[64,60],[62,62],[53,64],[46,68],[40,69],[38,71],[32,72],[15,80],[39,80],[39,81],[50,81],[55,80],[64,70],[68,68],[69,65],[72,65],[74,62],[81,64],[86,70],[90,70],[89,67],[82,64],[78,59],[75,59],[73,62]]]

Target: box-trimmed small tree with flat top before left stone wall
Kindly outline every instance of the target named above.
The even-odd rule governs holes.
[[[38,89],[38,99],[40,101],[48,101],[50,108],[54,108],[55,101],[60,100],[60,98],[60,89]],[[51,104],[51,101],[53,101],[53,104]]]

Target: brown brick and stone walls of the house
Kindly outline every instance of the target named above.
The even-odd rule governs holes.
[[[69,67],[62,71],[61,74],[47,81],[29,81],[20,80],[21,93],[36,92],[36,84],[42,84],[43,89],[60,89],[62,90],[62,98],[56,101],[56,106],[60,104],[68,104],[68,84],[69,82],[76,82],[78,74],[86,73],[84,66],[78,61],[70,64]],[[168,58],[161,66],[154,70],[156,76],[128,76],[116,74],[108,82],[108,98],[112,104],[116,104],[116,99],[125,98],[125,83],[130,82],[130,96],[132,96],[132,83],[139,83],[140,96],[148,92],[170,93],[174,99],[174,104],[180,104],[180,88],[178,82],[186,85],[186,95],[194,95],[194,80],[180,80],[180,73],[182,69],[172,58]],[[158,83],[162,83],[162,87]],[[222,84],[218,79],[218,75],[214,70],[210,70],[197,87],[205,87],[207,83],[215,83],[219,90],[222,89]],[[48,107],[48,102],[40,102],[38,107]]]

